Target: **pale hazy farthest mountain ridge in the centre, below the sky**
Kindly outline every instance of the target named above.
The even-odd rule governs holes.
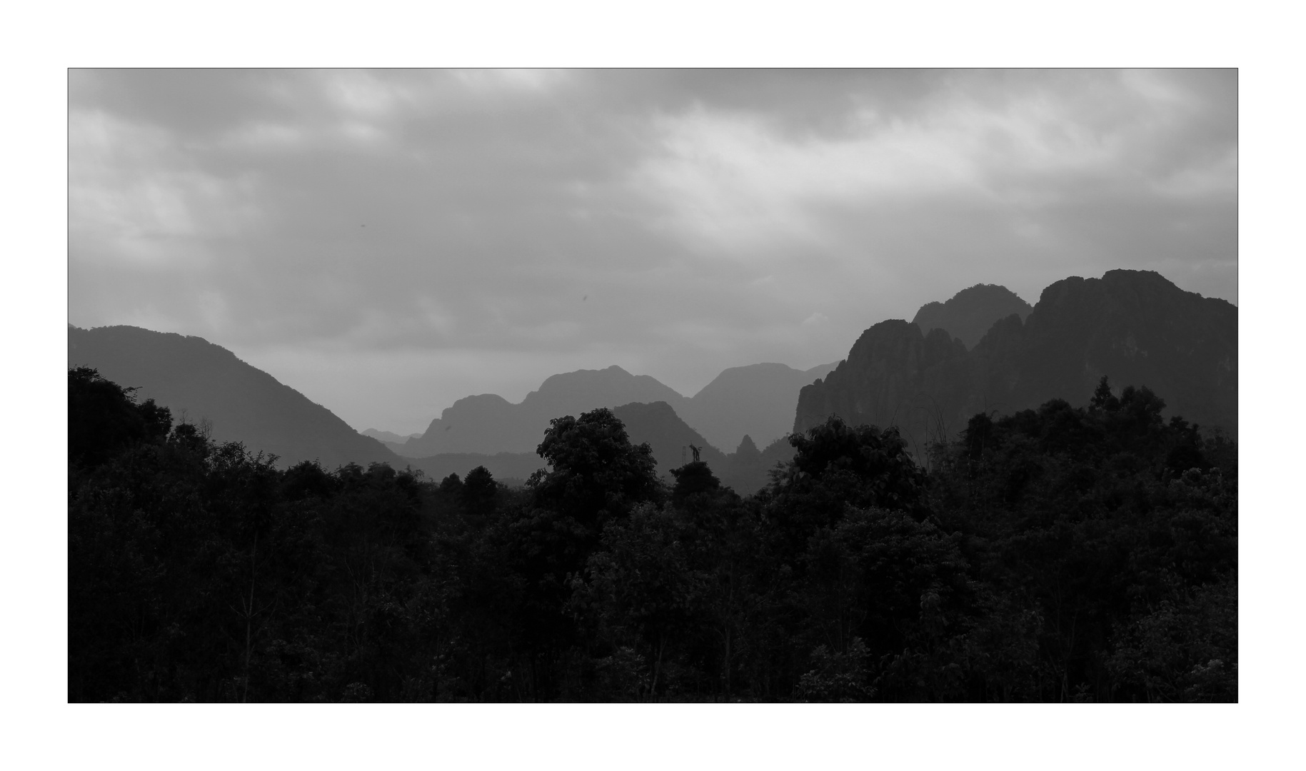
[[[692,399],[654,378],[632,375],[618,366],[577,370],[552,375],[520,404],[494,393],[460,399],[431,421],[424,434],[390,447],[406,457],[533,452],[552,418],[601,406],[658,401],[717,447],[734,447],[744,434],[771,442],[788,433],[803,384],[833,366],[807,371],[774,363],[731,367]]]

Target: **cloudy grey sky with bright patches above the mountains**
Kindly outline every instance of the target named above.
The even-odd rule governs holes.
[[[1235,71],[68,74],[68,320],[355,429],[619,365],[692,396],[966,286],[1238,302]]]

